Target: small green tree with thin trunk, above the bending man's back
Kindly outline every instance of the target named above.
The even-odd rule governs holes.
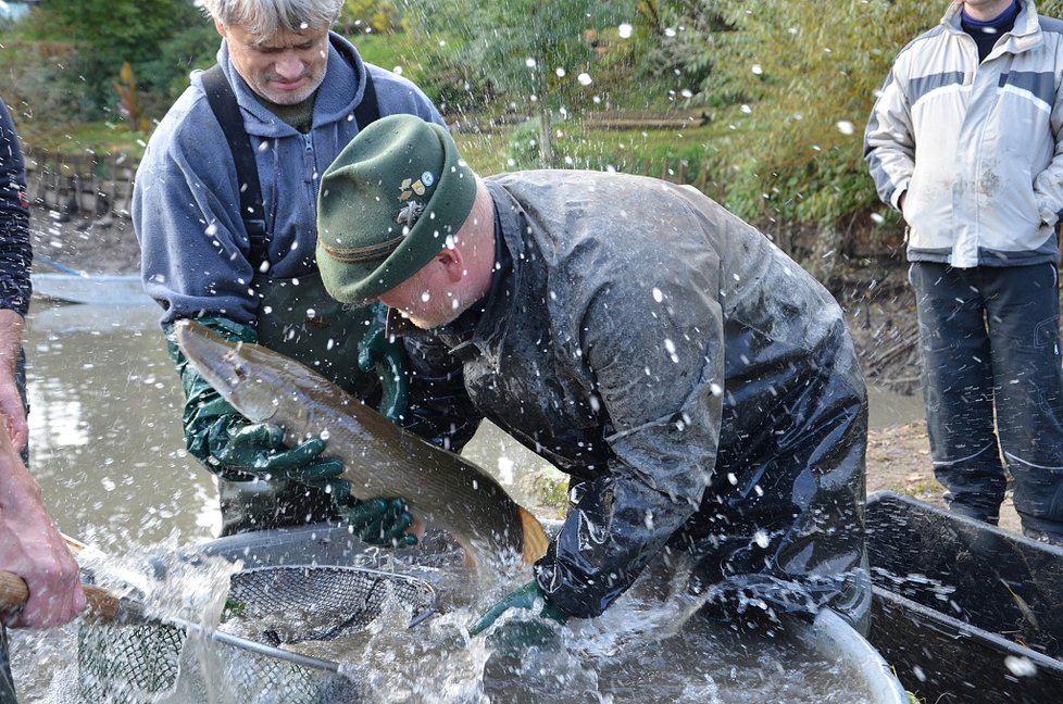
[[[426,0],[417,3],[414,18],[428,34],[459,37],[466,65],[488,74],[512,102],[528,105],[539,121],[540,161],[551,166],[553,116],[572,110],[587,92],[599,32],[630,18],[633,5],[623,0]]]

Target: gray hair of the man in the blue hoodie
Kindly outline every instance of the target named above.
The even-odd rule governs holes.
[[[203,0],[207,14],[252,37],[330,27],[342,8],[343,0]]]

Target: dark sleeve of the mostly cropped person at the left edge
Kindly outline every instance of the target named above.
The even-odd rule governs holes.
[[[0,307],[26,315],[32,261],[26,166],[11,113],[0,101]]]

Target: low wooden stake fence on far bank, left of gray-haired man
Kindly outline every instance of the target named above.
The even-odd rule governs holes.
[[[137,164],[126,154],[26,154],[26,186],[36,208],[63,217],[128,217]]]

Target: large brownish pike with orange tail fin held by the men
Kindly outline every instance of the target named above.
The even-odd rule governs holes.
[[[288,443],[325,437],[325,456],[343,461],[355,496],[405,499],[414,516],[451,533],[476,564],[508,552],[532,563],[546,552],[538,519],[461,455],[403,430],[295,360],[228,342],[193,320],[174,329],[188,361],[246,417],[280,426]]]

